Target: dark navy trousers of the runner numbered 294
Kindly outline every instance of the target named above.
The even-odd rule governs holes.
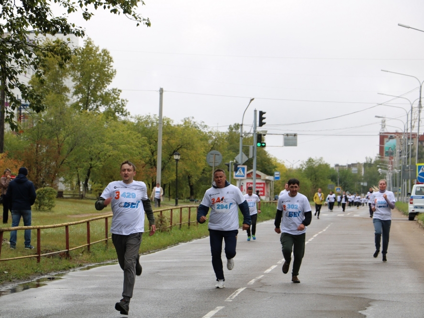
[[[225,242],[225,257],[229,260],[235,256],[235,246],[237,244],[238,230],[218,231],[209,229],[209,239],[211,241],[212,267],[216,280],[225,280],[222,269],[222,239]]]

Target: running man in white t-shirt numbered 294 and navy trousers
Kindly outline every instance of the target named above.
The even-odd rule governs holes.
[[[234,267],[235,246],[238,234],[238,208],[243,214],[243,231],[251,223],[249,205],[240,189],[226,181],[225,171],[216,169],[213,172],[212,188],[206,190],[205,196],[197,211],[197,221],[205,223],[209,208],[209,239],[211,242],[212,267],[216,276],[216,288],[225,287],[222,268],[222,240],[225,242],[225,257],[227,269]]]

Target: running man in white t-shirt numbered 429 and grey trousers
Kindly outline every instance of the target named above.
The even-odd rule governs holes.
[[[103,210],[112,204],[112,242],[118,262],[124,271],[122,299],[115,304],[121,315],[128,315],[130,300],[133,297],[135,277],[140,276],[142,267],[139,249],[144,232],[144,213],[151,226],[150,236],[155,234],[155,217],[144,182],[134,181],[136,167],[130,161],[121,164],[122,181],[113,181],[103,190],[96,201],[96,210]]]

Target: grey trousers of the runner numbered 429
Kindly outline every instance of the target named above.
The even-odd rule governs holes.
[[[140,249],[142,234],[112,234],[112,242],[118,256],[119,266],[124,271],[124,291],[122,292],[122,298],[127,303],[133,297],[134,284],[136,282],[136,264],[140,259],[138,251]]]

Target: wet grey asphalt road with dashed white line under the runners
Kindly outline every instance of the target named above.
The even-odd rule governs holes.
[[[373,258],[368,207],[322,210],[306,233],[300,284],[291,283],[291,267],[282,273],[279,235],[268,221],[258,224],[256,241],[247,242],[239,230],[235,266],[225,268],[223,289],[214,288],[209,238],[142,256],[129,317],[424,317],[424,230],[394,211],[383,263],[381,254]],[[1,296],[0,317],[122,317],[114,309],[122,282],[118,265],[73,271]]]

